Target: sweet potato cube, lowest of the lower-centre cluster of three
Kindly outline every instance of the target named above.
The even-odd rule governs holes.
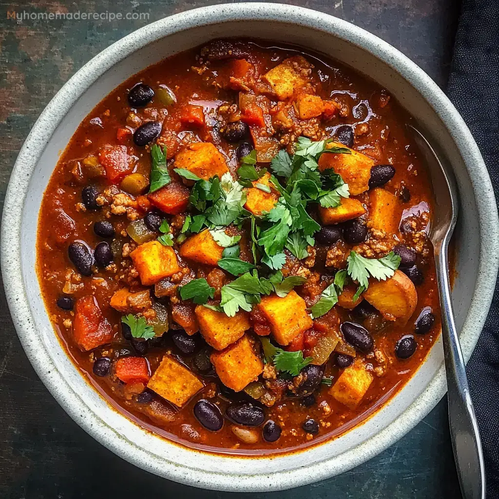
[[[210,360],[222,383],[235,392],[256,381],[263,372],[263,362],[255,355],[253,343],[246,334],[222,352],[212,353]]]

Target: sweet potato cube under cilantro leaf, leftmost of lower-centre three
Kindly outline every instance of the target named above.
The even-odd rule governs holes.
[[[247,312],[236,312],[234,317],[228,317],[224,312],[211,310],[198,305],[195,310],[199,329],[205,341],[217,350],[238,341],[250,329],[250,319]]]

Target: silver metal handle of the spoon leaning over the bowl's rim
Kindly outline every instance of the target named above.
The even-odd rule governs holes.
[[[477,418],[459,337],[454,324],[449,281],[447,238],[435,248],[440,303],[442,307],[442,338],[447,373],[449,423],[452,447],[464,499],[485,499],[485,465]]]

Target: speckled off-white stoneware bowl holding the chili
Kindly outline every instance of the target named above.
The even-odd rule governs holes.
[[[426,130],[460,190],[456,231],[456,323],[466,359],[489,309],[498,269],[498,215],[480,152],[442,90],[413,62],[348,22],[301,7],[239,3],[160,20],[114,43],[80,69],[41,114],[15,163],[5,199],[1,263],[17,334],[38,375],[90,435],[144,470],[196,487],[268,491],[342,473],[393,444],[446,391],[441,343],[390,403],[336,440],[300,453],[243,458],[193,451],[158,438],[117,413],[83,379],[59,344],[40,298],[35,264],[43,191],[76,127],[114,87],[160,59],[221,36],[285,41],[325,53],[386,87]]]

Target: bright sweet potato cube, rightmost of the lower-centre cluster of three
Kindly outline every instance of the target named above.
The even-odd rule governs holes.
[[[258,308],[270,323],[273,337],[280,345],[288,345],[298,334],[312,327],[305,301],[294,290],[283,298],[276,294],[264,296]]]

